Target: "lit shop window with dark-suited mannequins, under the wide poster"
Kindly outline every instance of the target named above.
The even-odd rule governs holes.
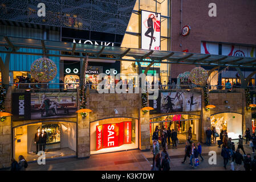
[[[45,147],[46,159],[76,156],[76,125],[50,121],[14,127],[13,157],[18,160],[23,155],[27,161],[37,160],[36,147],[39,151]],[[41,142],[44,139],[45,144]]]

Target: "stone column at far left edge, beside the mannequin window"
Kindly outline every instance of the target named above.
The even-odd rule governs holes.
[[[0,121],[0,168],[11,166],[11,117]]]

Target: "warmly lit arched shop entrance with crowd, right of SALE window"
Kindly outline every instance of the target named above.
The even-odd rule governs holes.
[[[153,118],[149,124],[151,139],[156,127],[158,126],[159,136],[161,136],[162,130],[168,130],[170,128],[170,130],[177,131],[179,143],[185,143],[189,136],[190,138],[192,137],[193,141],[199,141],[199,121],[200,116],[189,114],[173,114]],[[161,143],[160,140],[159,142]]]

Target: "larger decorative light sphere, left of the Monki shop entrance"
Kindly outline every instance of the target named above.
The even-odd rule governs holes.
[[[30,72],[32,77],[42,83],[47,83],[57,75],[57,67],[54,61],[47,57],[41,57],[32,63]]]

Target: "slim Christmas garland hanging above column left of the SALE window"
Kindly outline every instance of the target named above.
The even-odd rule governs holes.
[[[86,56],[86,58],[84,58],[85,61],[85,65],[84,65],[84,80],[83,82],[81,82],[80,84],[80,109],[86,109],[86,71],[87,71],[87,67],[88,67],[88,56]],[[86,117],[87,113],[80,113],[82,115],[82,117]]]

